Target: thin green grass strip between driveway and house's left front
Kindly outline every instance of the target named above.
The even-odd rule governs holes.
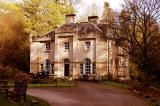
[[[14,83],[9,82],[8,86],[14,86]],[[57,83],[57,86],[58,87],[75,87],[76,84],[59,82],[59,83]],[[56,87],[56,83],[53,83],[53,84],[28,84],[28,87]]]

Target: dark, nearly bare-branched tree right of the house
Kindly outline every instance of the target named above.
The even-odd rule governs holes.
[[[126,0],[119,16],[117,43],[130,54],[130,60],[150,83],[157,52],[160,50],[160,2],[158,0]],[[159,61],[158,61],[159,63]]]

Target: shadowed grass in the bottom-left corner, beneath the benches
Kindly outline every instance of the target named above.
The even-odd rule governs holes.
[[[21,99],[23,100],[23,98]],[[7,97],[0,96],[0,106],[50,106],[48,102],[27,95],[26,102],[14,102],[12,99],[7,99]]]

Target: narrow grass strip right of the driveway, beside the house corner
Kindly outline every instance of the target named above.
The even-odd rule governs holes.
[[[100,82],[100,83],[104,84],[104,85],[110,85],[110,86],[121,87],[121,88],[131,88],[130,85],[121,84],[121,83],[117,83],[117,82],[113,82],[113,81],[104,81],[104,82]]]

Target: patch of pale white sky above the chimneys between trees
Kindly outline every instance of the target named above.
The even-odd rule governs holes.
[[[121,4],[124,3],[124,0],[82,0],[82,3],[79,5],[77,16],[81,16],[86,13],[89,6],[93,3],[96,3],[100,9],[100,14],[103,12],[104,2],[108,2],[110,7],[115,11],[121,10]],[[101,15],[100,15],[101,16]]]

